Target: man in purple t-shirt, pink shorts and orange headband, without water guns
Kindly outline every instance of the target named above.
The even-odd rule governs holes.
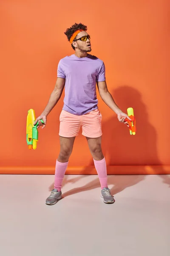
[[[62,180],[81,126],[99,176],[101,197],[105,203],[111,204],[114,203],[114,198],[108,188],[106,162],[101,148],[102,115],[97,106],[96,83],[102,100],[117,114],[119,121],[127,125],[125,118],[130,118],[120,110],[108,91],[103,61],[88,54],[91,52],[91,38],[87,33],[87,26],[75,23],[66,30],[65,35],[75,53],[59,61],[54,90],[44,111],[34,122],[39,123],[38,127],[45,127],[47,116],[59,101],[65,87],[64,106],[59,116],[60,153],[56,161],[54,189],[46,199],[46,204],[56,204],[62,198]],[[40,119],[44,121],[44,125]]]

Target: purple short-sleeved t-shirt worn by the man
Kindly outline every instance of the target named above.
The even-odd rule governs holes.
[[[57,77],[65,78],[63,110],[79,116],[98,108],[96,81],[105,81],[102,60],[90,54],[66,56],[59,61]]]

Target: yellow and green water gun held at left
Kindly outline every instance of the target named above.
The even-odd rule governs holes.
[[[28,145],[28,149],[36,149],[37,148],[37,142],[38,142],[38,122],[36,125],[34,125],[36,118],[35,118],[35,111],[34,109],[28,110],[27,115],[27,122],[26,122],[26,141]],[[43,124],[44,121],[40,120]]]

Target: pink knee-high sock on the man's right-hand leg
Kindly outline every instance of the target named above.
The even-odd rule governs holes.
[[[108,188],[108,177],[105,157],[100,161],[94,160],[94,166],[99,176],[101,189]]]

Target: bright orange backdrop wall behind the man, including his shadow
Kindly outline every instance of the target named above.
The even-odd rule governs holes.
[[[170,165],[168,0],[6,0],[0,6],[1,169],[55,165],[64,94],[46,128],[39,129],[35,151],[27,148],[26,116],[30,108],[40,115],[54,89],[59,60],[74,53],[64,32],[75,22],[88,26],[91,53],[105,62],[116,103],[123,111],[133,107],[136,115],[136,136],[130,136],[98,93],[107,164]],[[79,135],[69,166],[89,165],[93,160]]]

